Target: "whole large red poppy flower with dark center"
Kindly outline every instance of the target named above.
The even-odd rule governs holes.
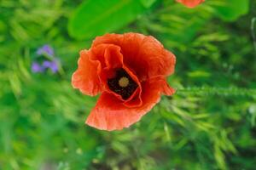
[[[96,37],[82,50],[73,88],[83,94],[101,94],[86,123],[116,130],[139,121],[160,101],[172,95],[166,77],[174,71],[175,56],[154,37],[138,33]]]

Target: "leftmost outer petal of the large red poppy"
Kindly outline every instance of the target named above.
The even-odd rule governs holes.
[[[97,60],[91,58],[90,51],[82,50],[79,58],[79,68],[73,73],[73,88],[79,90],[86,95],[94,96],[102,92],[102,86],[98,77],[101,71],[101,64]]]

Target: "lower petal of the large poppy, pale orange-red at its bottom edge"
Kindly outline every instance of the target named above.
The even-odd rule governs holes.
[[[166,83],[163,86],[163,82],[165,80],[159,77],[143,82],[143,105],[136,108],[126,107],[113,94],[104,92],[90,112],[86,124],[108,131],[130,127],[160,101],[160,94],[166,88]]]

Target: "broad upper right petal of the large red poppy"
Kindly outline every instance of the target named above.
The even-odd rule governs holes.
[[[160,75],[169,76],[174,71],[174,54],[167,51],[154,37],[139,33],[106,34],[96,37],[93,46],[102,43],[119,46],[124,55],[124,64],[134,71],[140,80]]]

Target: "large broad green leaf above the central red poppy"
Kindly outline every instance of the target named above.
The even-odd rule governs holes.
[[[96,37],[131,23],[145,10],[137,0],[88,0],[74,12],[68,32],[77,39]]]

